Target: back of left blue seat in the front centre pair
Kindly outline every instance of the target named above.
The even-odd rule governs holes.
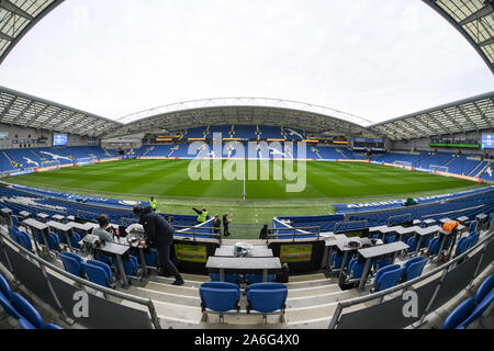
[[[238,308],[240,290],[237,285],[226,282],[203,283],[199,288],[202,308],[218,313]]]

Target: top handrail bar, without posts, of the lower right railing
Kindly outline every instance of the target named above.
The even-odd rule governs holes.
[[[404,283],[402,283],[400,285],[395,285],[395,286],[392,286],[390,288],[383,290],[381,292],[377,292],[377,293],[372,293],[370,295],[355,297],[355,298],[349,298],[349,299],[346,299],[346,301],[338,302],[336,312],[333,315],[333,318],[332,318],[332,320],[329,322],[329,328],[332,329],[332,328],[336,327],[336,325],[338,322],[338,319],[339,319],[339,317],[340,317],[340,315],[343,313],[343,309],[346,308],[346,307],[350,307],[350,306],[355,306],[355,305],[358,305],[358,304],[362,304],[362,303],[366,303],[366,302],[369,302],[369,301],[373,301],[373,299],[383,297],[385,295],[392,294],[392,293],[397,292],[397,291],[406,290],[408,286],[414,285],[414,284],[416,284],[418,282],[422,282],[422,281],[428,279],[429,276],[433,276],[433,275],[435,275],[435,274],[437,274],[437,273],[439,273],[441,271],[446,272],[452,264],[459,262],[463,258],[465,258],[469,254],[471,254],[474,250],[476,250],[478,248],[483,246],[485,242],[492,240],[493,235],[494,235],[494,230],[493,229],[490,229],[490,230],[491,231],[490,233],[487,231],[486,235],[480,241],[478,241],[475,246],[473,246],[472,248],[470,248],[469,250],[467,250],[462,254],[456,257],[451,261],[449,261],[449,262],[447,262],[447,263],[445,263],[445,264],[442,264],[442,265],[431,270],[430,272],[427,272],[427,273],[422,274],[422,275],[419,275],[419,276],[417,276],[417,278],[415,278],[413,280],[409,280],[409,281],[404,282]]]

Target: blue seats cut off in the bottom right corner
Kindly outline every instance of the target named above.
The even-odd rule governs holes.
[[[441,329],[465,329],[490,307],[494,299],[494,274],[491,274],[476,291],[475,297],[463,301],[446,318]]]

